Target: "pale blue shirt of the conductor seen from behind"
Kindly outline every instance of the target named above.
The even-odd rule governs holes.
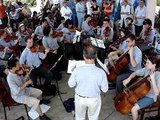
[[[106,73],[95,66],[95,64],[85,64],[75,68],[69,81],[69,87],[75,87],[75,92],[81,96],[97,97],[108,91],[108,80]]]

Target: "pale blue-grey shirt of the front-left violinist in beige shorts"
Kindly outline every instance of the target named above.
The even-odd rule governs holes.
[[[25,98],[29,95],[29,89],[25,88],[20,91],[20,86],[24,84],[24,80],[21,76],[9,72],[7,76],[7,82],[10,87],[12,98],[18,103],[24,103]]]

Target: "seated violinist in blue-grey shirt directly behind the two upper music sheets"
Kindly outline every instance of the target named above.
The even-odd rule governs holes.
[[[87,37],[94,37],[94,28],[90,25],[91,16],[86,15],[85,21],[82,23],[82,33]]]

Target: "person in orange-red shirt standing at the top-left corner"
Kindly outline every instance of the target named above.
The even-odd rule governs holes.
[[[6,6],[3,5],[3,0],[0,0],[0,29],[7,27],[8,16],[6,13]]]

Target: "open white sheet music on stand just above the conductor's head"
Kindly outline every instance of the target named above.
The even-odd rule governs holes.
[[[103,48],[103,49],[106,48],[106,47],[104,46],[103,40],[96,39],[96,38],[93,38],[93,37],[90,37],[90,39],[91,39],[92,45],[94,45],[94,46],[96,46],[96,47],[99,47],[99,48]]]

